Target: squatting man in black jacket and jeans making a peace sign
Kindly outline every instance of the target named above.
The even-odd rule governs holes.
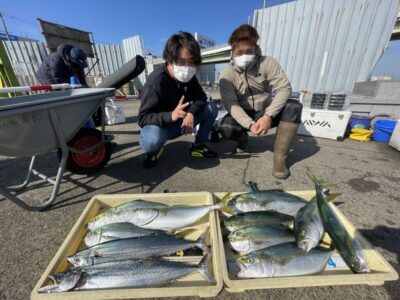
[[[139,109],[140,146],[146,153],[145,168],[154,167],[167,140],[191,133],[200,125],[189,154],[215,158],[206,146],[218,108],[207,96],[195,76],[201,64],[200,47],[187,32],[171,36],[164,48],[165,65],[147,78]]]

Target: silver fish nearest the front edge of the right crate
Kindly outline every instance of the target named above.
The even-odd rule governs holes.
[[[305,253],[296,243],[286,243],[264,248],[236,260],[239,278],[300,276],[321,272],[332,250],[314,248]]]

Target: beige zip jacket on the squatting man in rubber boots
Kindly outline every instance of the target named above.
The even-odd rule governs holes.
[[[258,47],[257,47],[258,48]],[[246,71],[233,61],[226,67],[219,80],[222,102],[232,117],[244,128],[254,120],[244,110],[260,111],[276,117],[288,100],[292,88],[279,63],[270,56],[261,56],[258,48],[256,59]],[[272,93],[275,97],[272,101]]]

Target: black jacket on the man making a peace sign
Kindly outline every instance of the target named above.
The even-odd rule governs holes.
[[[153,71],[147,78],[139,109],[139,126],[157,125],[167,127],[174,123],[171,112],[185,95],[185,102],[192,102],[188,112],[195,115],[207,102],[207,96],[197,81],[196,76],[182,83],[173,79],[165,64]]]

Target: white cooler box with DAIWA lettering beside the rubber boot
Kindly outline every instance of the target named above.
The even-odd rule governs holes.
[[[341,141],[350,116],[350,110],[337,111],[303,107],[302,123],[297,133]]]

